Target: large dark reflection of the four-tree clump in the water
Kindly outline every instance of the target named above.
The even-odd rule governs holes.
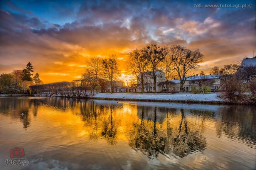
[[[156,111],[155,107],[154,121],[147,121],[144,120],[144,108],[142,107],[140,124],[133,123],[134,130],[130,133],[131,147],[140,150],[149,158],[157,157],[159,153],[168,155],[174,153],[179,157],[184,157],[193,151],[204,150],[205,137],[200,135],[199,130],[189,128],[183,109],[181,109],[178,127],[170,123],[170,112],[167,113],[165,119],[166,127],[163,124],[158,125]]]

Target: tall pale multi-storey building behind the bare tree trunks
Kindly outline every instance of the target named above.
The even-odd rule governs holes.
[[[140,82],[139,80],[140,75],[137,77],[137,82]],[[157,83],[165,81],[165,73],[162,70],[156,71],[156,79]],[[144,92],[154,92],[154,78],[153,78],[153,72],[146,72],[144,75]],[[157,92],[160,92],[162,87],[157,85]],[[141,85],[138,87],[138,92],[142,92]]]

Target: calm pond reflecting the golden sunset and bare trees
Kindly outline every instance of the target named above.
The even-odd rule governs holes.
[[[256,169],[256,107],[2,97],[0,169],[22,168]]]

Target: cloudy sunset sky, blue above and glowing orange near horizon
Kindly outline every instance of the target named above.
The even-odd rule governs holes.
[[[151,42],[199,48],[197,73],[253,57],[256,1],[0,1],[0,73],[31,62],[44,83],[72,81],[116,54],[126,81],[128,53]]]

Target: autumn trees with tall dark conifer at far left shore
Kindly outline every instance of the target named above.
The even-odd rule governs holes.
[[[24,94],[30,93],[30,85],[41,84],[39,74],[32,72],[33,65],[27,63],[23,70],[13,70],[12,73],[3,73],[0,75],[0,93],[4,94]]]

